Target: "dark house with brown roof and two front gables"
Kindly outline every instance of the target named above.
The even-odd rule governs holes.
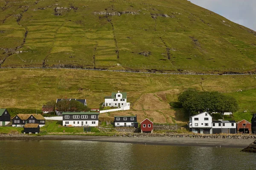
[[[38,124],[40,127],[43,127],[45,119],[41,114],[17,114],[12,118],[13,127],[24,127],[26,123]]]

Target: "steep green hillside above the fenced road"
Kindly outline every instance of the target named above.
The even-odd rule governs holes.
[[[241,71],[256,64],[255,31],[187,0],[0,0],[0,40],[1,67]]]

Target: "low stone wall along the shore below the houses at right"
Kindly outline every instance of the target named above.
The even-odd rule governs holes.
[[[201,135],[201,134],[165,134],[165,133],[119,133],[114,136],[128,137],[173,137],[173,138],[222,138],[222,139],[256,139],[256,135]]]

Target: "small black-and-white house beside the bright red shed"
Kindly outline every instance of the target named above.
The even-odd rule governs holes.
[[[115,116],[115,127],[138,127],[137,115],[136,116]]]

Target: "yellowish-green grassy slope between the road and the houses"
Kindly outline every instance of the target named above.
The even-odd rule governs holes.
[[[172,108],[177,96],[187,88],[219,91],[234,96],[239,111],[234,119],[250,121],[256,111],[256,76],[159,75],[66,69],[0,69],[0,108],[41,108],[57,98],[87,99],[90,108],[99,108],[111,92],[128,93],[131,110],[101,114],[136,115],[138,122],[149,118],[155,123],[188,121],[182,109]],[[241,89],[242,91],[239,91]],[[247,111],[244,113],[244,111]]]

